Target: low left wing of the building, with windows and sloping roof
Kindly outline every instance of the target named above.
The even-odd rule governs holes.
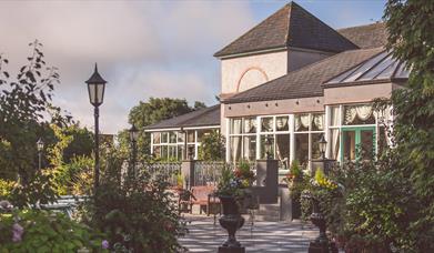
[[[158,122],[144,131],[151,133],[151,153],[155,158],[180,161],[191,150],[198,159],[202,138],[220,131],[220,104]]]

